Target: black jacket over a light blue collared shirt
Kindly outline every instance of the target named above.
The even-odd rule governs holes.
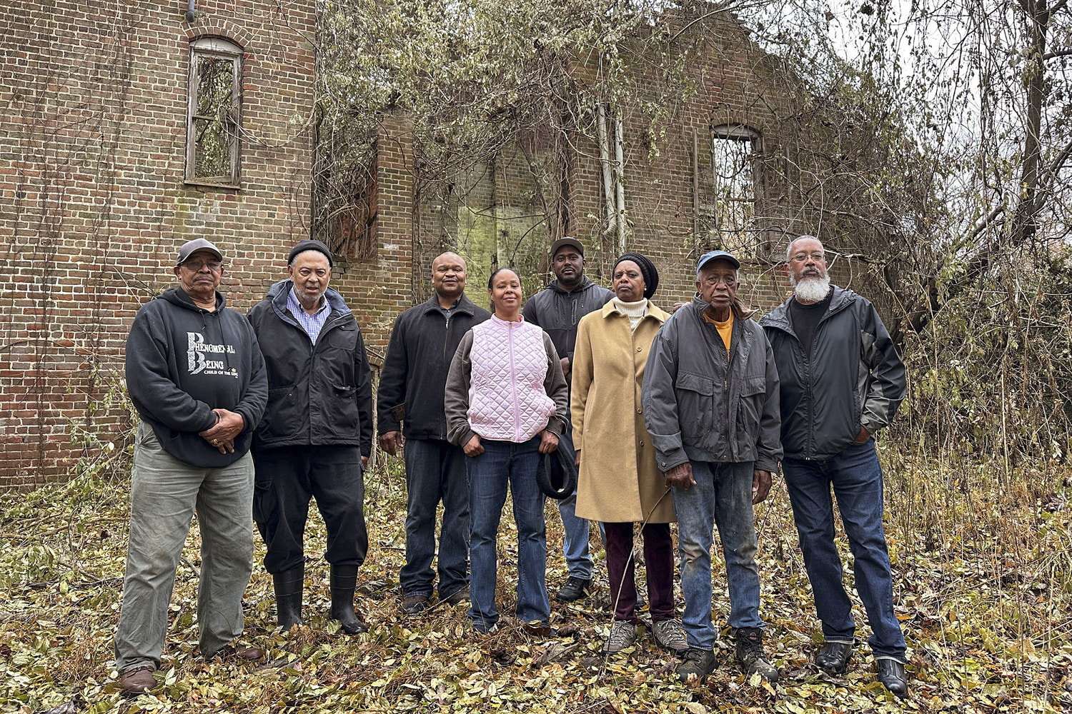
[[[268,368],[268,408],[254,449],[360,446],[372,454],[372,380],[354,314],[334,290],[314,346],[286,306],[291,280],[271,286],[250,309]]]

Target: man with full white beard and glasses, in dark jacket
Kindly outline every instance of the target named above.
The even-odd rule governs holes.
[[[855,636],[834,545],[833,487],[872,626],[878,679],[904,696],[905,638],[893,611],[882,468],[872,437],[905,397],[905,366],[875,307],[830,285],[818,239],[801,236],[786,258],[794,293],[761,324],[781,376],[781,468],[825,638],[816,664],[844,673]]]

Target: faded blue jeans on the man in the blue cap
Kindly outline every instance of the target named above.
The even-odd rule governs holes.
[[[763,627],[751,513],[753,461],[690,464],[696,485],[687,490],[671,489],[678,512],[681,590],[685,595],[682,624],[689,647],[713,650],[716,636],[711,622],[711,543],[716,525],[726,559],[730,626]]]

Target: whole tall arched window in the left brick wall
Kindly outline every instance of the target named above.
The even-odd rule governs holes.
[[[187,183],[237,188],[242,48],[222,37],[190,43]]]

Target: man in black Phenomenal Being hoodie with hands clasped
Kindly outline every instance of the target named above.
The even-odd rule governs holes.
[[[138,310],[126,339],[126,388],[142,416],[131,473],[131,526],[116,632],[119,686],[157,685],[175,571],[194,513],[202,535],[202,654],[262,656],[242,634],[253,569],[250,441],[268,399],[257,339],[217,291],[223,255],[205,239],[179,248],[179,287]]]

